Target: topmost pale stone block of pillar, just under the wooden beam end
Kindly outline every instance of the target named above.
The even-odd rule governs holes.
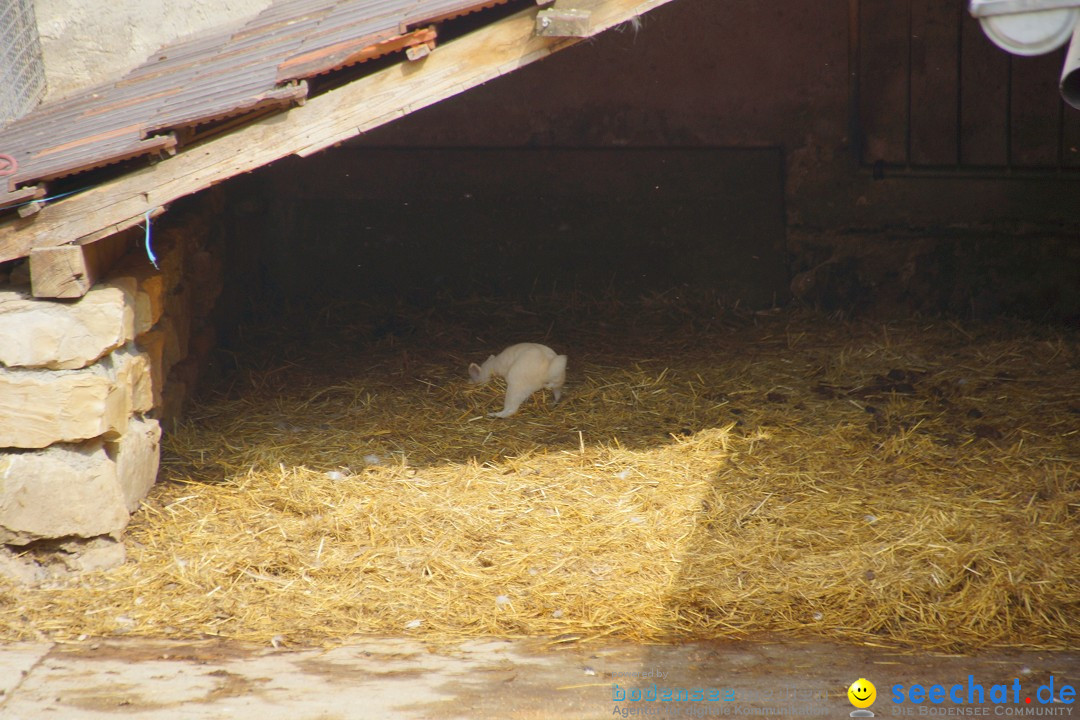
[[[135,337],[136,283],[118,277],[73,302],[0,290],[0,366],[83,368]]]

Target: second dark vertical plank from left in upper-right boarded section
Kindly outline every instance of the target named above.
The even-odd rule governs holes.
[[[961,8],[955,0],[912,0],[912,164],[958,160],[957,47]]]

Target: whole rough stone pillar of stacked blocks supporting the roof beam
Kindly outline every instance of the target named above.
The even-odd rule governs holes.
[[[162,425],[214,345],[202,217],[158,231],[158,268],[133,253],[78,300],[0,277],[0,544],[119,538],[153,485]]]

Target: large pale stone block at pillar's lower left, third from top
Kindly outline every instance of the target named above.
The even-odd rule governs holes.
[[[117,463],[102,440],[0,452],[0,543],[93,538],[126,526]]]

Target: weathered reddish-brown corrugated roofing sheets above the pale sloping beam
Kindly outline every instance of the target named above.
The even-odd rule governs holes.
[[[0,128],[0,208],[27,188],[139,155],[175,131],[302,101],[305,79],[433,41],[428,25],[510,0],[279,0],[239,29],[166,45],[121,80]]]

